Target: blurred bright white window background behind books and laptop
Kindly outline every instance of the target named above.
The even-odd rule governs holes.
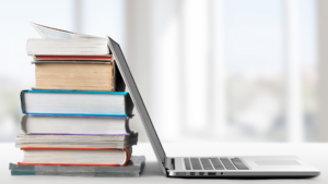
[[[326,3],[0,0],[0,142],[21,133],[19,95],[35,85],[30,22],[119,42],[164,143],[327,140]]]

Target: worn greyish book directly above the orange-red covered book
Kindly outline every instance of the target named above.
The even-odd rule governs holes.
[[[127,137],[122,140],[113,140]],[[75,148],[116,148],[124,149],[137,145],[138,133],[127,136],[108,135],[38,135],[21,134],[15,139],[15,147],[75,147]]]

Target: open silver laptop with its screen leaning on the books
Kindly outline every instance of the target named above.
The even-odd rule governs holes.
[[[167,157],[117,42],[108,46],[141,116],[163,173],[169,177],[313,177],[320,171],[297,157]]]

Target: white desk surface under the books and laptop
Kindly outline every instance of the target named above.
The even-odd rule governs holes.
[[[179,146],[180,145],[180,146]],[[328,144],[163,144],[167,156],[297,156],[321,170],[321,175],[314,179],[298,180],[226,180],[226,179],[171,179],[165,177],[156,162],[150,144],[138,144],[133,147],[133,155],[144,155],[145,168],[141,177],[72,177],[72,176],[11,176],[9,162],[17,162],[23,158],[23,151],[14,148],[14,144],[0,144],[0,183],[1,184],[134,184],[134,183],[279,183],[279,184],[328,184]]]

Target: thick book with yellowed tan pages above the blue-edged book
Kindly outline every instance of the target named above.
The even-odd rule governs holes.
[[[35,64],[35,89],[125,90],[114,62],[43,60],[32,63]]]

